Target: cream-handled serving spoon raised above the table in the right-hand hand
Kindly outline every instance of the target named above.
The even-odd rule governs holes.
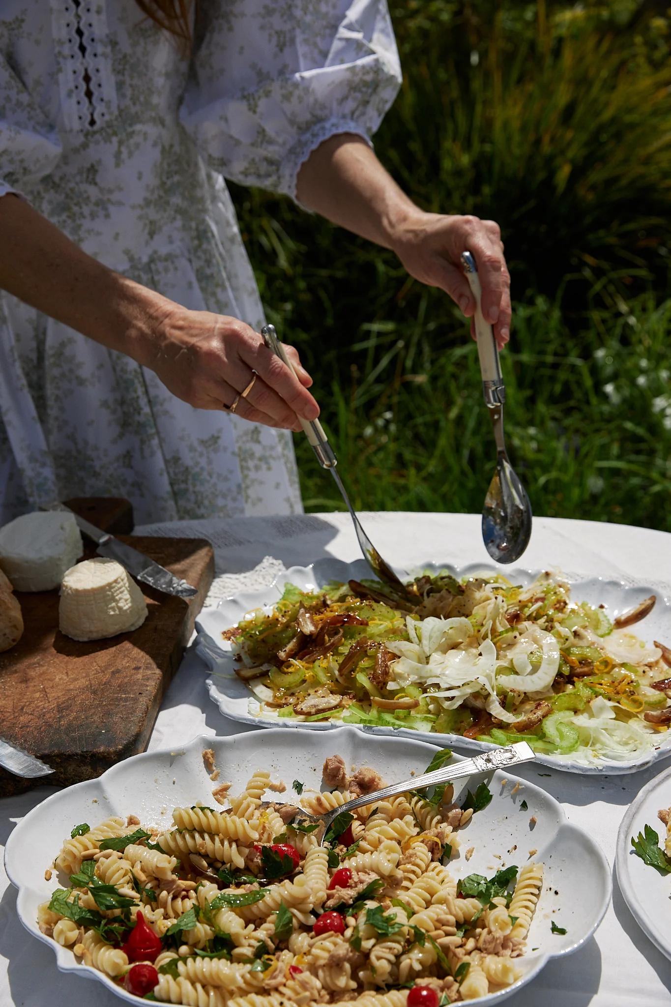
[[[464,252],[462,265],[475,297],[475,332],[482,374],[485,405],[494,427],[496,471],[489,484],[482,511],[482,538],[485,549],[497,563],[514,563],[529,544],[531,505],[526,490],[510,464],[503,436],[503,404],[506,390],[501,376],[499,351],[492,326],[482,313],[482,288],[478,267],[471,252]]]

